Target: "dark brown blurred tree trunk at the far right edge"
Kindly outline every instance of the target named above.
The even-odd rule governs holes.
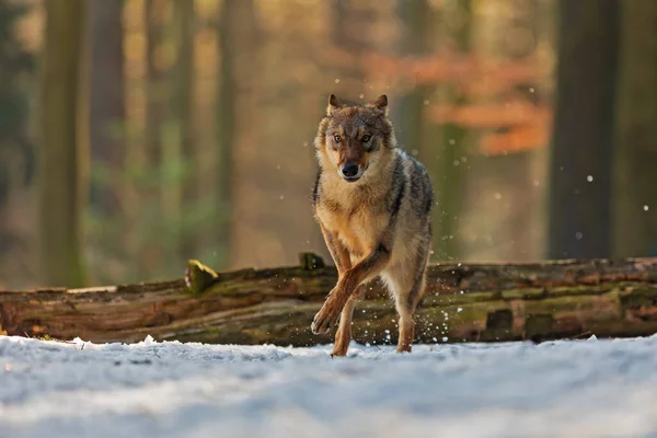
[[[657,256],[657,1],[621,12],[614,253]]]

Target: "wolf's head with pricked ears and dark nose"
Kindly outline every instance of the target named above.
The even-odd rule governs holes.
[[[388,96],[354,104],[331,94],[314,143],[324,171],[333,170],[348,183],[359,181],[366,173],[376,174],[396,148],[388,117]]]

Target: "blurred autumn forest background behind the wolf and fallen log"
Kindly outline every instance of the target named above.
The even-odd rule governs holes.
[[[434,262],[657,255],[657,1],[0,0],[0,288],[330,260],[330,93],[390,99]]]

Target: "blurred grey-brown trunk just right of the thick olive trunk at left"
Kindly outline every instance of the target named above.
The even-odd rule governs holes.
[[[89,1],[90,281],[113,281],[111,266],[129,253],[124,57],[124,0]],[[87,111],[87,110],[83,110]]]

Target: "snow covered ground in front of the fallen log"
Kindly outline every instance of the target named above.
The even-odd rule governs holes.
[[[0,336],[0,437],[657,436],[657,336],[328,353]]]

